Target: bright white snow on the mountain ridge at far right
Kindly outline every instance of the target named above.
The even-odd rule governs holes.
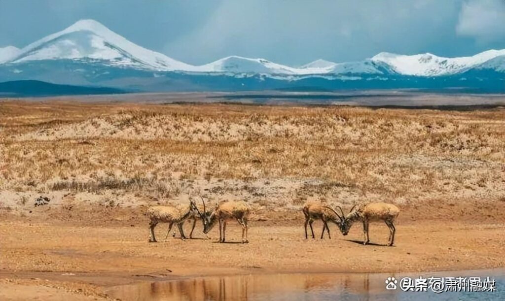
[[[394,71],[402,75],[441,76],[464,72],[503,54],[505,49],[492,49],[474,56],[454,58],[440,57],[431,53],[401,55],[381,52],[371,59],[390,65]]]

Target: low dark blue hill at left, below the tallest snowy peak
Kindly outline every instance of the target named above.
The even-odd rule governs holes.
[[[0,97],[40,97],[119,93],[126,93],[126,91],[106,87],[57,85],[33,80],[0,83]]]

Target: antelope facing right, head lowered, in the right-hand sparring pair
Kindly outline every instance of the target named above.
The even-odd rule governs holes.
[[[338,206],[337,206],[338,207]],[[340,207],[338,207],[340,208]],[[331,239],[330,236],[330,228],[328,227],[328,222],[331,221],[335,223],[339,228],[340,224],[342,223],[343,218],[338,215],[338,213],[335,212],[332,208],[328,207],[327,205],[319,202],[319,201],[309,201],[304,204],[304,207],[301,209],[302,212],[304,212],[305,215],[305,238],[309,238],[307,235],[307,224],[310,225],[311,227],[311,232],[312,232],[312,238],[314,237],[314,229],[312,228],[312,223],[320,219],[323,221],[323,232],[321,233],[321,239],[323,239],[324,236],[324,231],[328,231],[328,237]]]

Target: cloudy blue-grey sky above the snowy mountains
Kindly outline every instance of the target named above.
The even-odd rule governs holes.
[[[505,48],[505,0],[0,0],[0,47],[23,47],[80,19],[190,64],[228,55],[303,65],[378,52],[472,55]]]

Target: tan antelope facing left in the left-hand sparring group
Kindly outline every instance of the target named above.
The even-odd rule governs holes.
[[[242,243],[248,243],[247,240],[247,217],[249,216],[249,206],[243,201],[228,201],[217,204],[214,210],[209,214],[205,208],[204,203],[204,214],[200,214],[200,217],[204,220],[204,233],[209,233],[209,231],[216,225],[219,221],[219,242],[225,242],[225,232],[226,223],[229,220],[236,220],[242,226]],[[245,237],[244,237],[245,234]]]

